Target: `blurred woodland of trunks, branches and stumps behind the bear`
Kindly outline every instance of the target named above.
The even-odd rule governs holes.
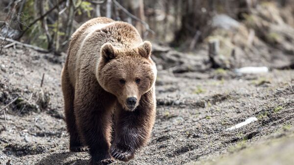
[[[294,68],[293,0],[0,0],[1,47],[17,40],[61,55],[75,29],[98,16],[133,24],[153,51],[196,52],[212,68]],[[192,62],[175,72],[203,69]]]

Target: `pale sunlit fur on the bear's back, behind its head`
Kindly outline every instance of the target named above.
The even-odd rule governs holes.
[[[142,43],[140,34],[134,26],[124,22],[99,17],[82,24],[72,35],[68,48],[67,69],[73,87],[78,78],[81,65],[90,70],[99,57],[99,50],[105,43],[117,48],[136,47]]]

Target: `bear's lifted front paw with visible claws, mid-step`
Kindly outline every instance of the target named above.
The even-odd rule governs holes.
[[[127,162],[134,157],[134,152],[129,149],[119,149],[117,147],[111,147],[110,154],[113,158],[123,162]]]

